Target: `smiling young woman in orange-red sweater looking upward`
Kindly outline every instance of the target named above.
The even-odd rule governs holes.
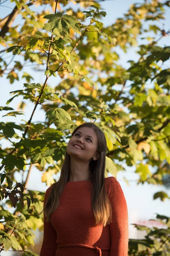
[[[59,180],[45,192],[40,256],[127,256],[127,204],[116,178],[105,178],[106,150],[94,123],[72,133]]]

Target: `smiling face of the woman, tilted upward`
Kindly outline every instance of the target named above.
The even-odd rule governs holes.
[[[81,149],[75,146],[75,144],[78,144]],[[97,144],[98,139],[95,131],[89,127],[82,127],[69,140],[67,153],[70,157],[88,162],[96,154]]]

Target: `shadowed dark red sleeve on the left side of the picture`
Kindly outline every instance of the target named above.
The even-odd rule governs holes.
[[[45,192],[44,202],[47,200],[50,192],[48,188]],[[51,222],[46,221],[46,216],[44,214],[44,236],[42,241],[42,247],[40,251],[40,256],[55,256],[57,250],[57,233],[52,226]]]

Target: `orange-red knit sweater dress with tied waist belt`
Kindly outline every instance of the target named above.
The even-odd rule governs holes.
[[[105,178],[112,207],[112,222],[96,225],[91,207],[91,180],[67,182],[59,207],[44,215],[40,256],[127,256],[128,213],[124,193],[115,177]],[[45,192],[47,200],[51,187]]]

